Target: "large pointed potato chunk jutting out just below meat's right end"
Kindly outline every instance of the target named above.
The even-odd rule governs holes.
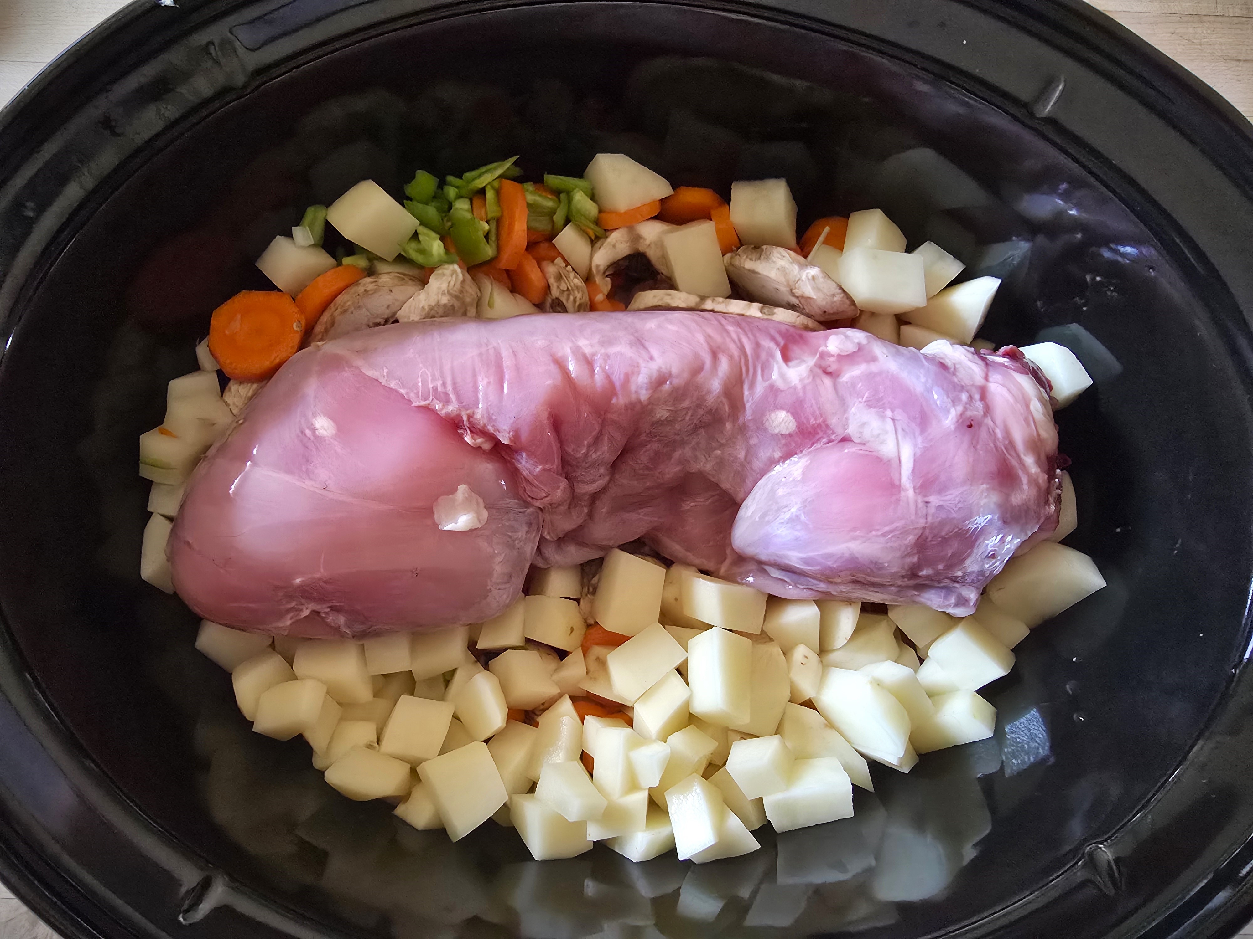
[[[1001,610],[1031,629],[1105,586],[1088,555],[1042,541],[1010,558],[987,585],[987,596]]]

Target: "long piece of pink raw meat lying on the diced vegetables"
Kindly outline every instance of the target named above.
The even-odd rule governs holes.
[[[216,622],[477,622],[637,538],[779,596],[956,615],[1056,525],[1025,359],[720,313],[429,321],[297,354],[193,476],[178,593]],[[481,527],[432,506],[467,486]]]

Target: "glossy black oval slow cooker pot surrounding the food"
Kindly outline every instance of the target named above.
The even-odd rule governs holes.
[[[634,935],[642,890],[673,936],[1234,931],[1253,138],[1080,8],[180,0],[54,66],[0,126],[4,879],[69,935]],[[1060,336],[1098,378],[1059,423],[1070,543],[1110,586],[1019,647],[996,739],[695,873],[536,865],[332,798],[137,576],[135,437],[303,205],[605,149],[677,184],[784,174],[806,217],[880,205],[1005,278],[990,338]],[[739,925],[758,896],[804,911]]]

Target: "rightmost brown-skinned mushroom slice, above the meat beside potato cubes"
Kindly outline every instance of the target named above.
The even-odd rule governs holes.
[[[819,323],[852,319],[857,304],[822,268],[787,248],[751,244],[725,258],[727,275],[749,299],[804,313]]]

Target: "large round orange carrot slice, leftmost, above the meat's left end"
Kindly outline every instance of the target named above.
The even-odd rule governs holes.
[[[241,290],[213,310],[209,352],[231,378],[262,382],[296,354],[304,317],[282,290]]]

